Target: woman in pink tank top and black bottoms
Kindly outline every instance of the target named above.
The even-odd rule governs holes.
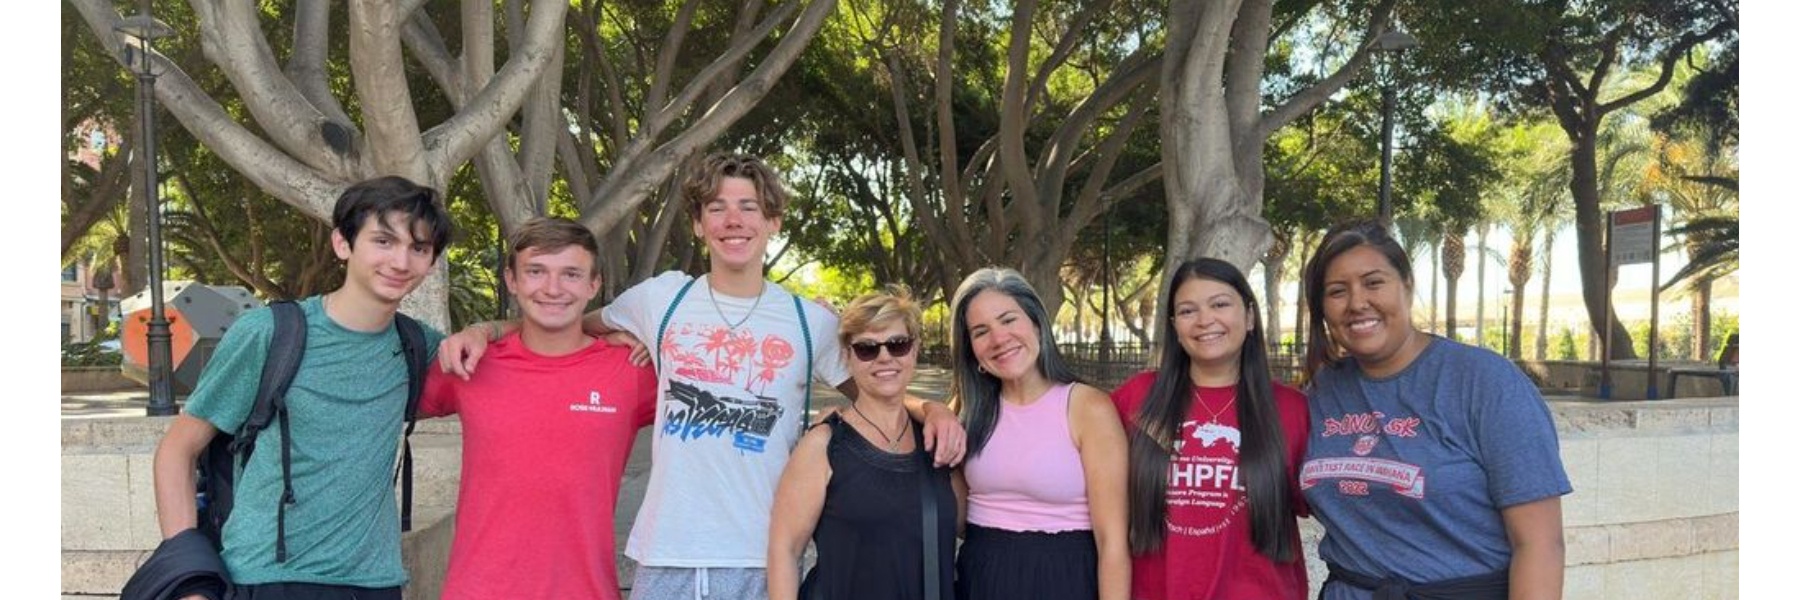
[[[956,596],[1127,598],[1127,445],[1112,402],[1057,355],[1017,270],[970,274],[950,306],[950,396],[968,431]]]

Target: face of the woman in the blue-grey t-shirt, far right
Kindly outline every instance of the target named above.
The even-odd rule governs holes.
[[[1418,357],[1424,339],[1413,328],[1413,290],[1372,245],[1337,254],[1325,267],[1325,324],[1372,377],[1399,373]]]

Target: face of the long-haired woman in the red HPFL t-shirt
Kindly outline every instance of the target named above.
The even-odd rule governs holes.
[[[1229,285],[1193,277],[1175,288],[1170,310],[1181,350],[1195,371],[1237,378],[1244,337],[1255,326],[1251,306]],[[1199,375],[1199,373],[1197,373]],[[1201,378],[1197,378],[1201,380]]]

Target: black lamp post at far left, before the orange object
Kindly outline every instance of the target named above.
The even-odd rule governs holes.
[[[157,198],[157,72],[151,68],[151,41],[167,38],[173,31],[155,16],[149,16],[149,2],[139,5],[137,16],[130,16],[115,27],[124,36],[126,65],[137,67],[137,121],[139,151],[144,160],[144,209],[149,213],[149,416],[175,414],[175,389],[169,387],[169,319],[162,312],[162,205]]]

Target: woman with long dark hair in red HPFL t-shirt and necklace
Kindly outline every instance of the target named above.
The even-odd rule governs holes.
[[[1130,596],[1305,598],[1307,398],[1269,380],[1256,295],[1231,263],[1183,263],[1163,306],[1175,344],[1112,393],[1130,438]]]

